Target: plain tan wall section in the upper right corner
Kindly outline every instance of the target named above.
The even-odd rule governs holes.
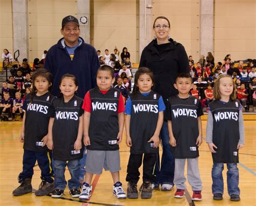
[[[215,0],[214,57],[256,58],[256,1]]]

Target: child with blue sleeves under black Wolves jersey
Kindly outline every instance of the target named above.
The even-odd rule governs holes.
[[[134,83],[132,95],[125,106],[126,145],[131,148],[126,175],[127,197],[138,198],[139,167],[143,162],[143,184],[139,190],[142,191],[142,198],[151,198],[165,105],[163,98],[151,90],[154,80],[148,68],[138,69]]]

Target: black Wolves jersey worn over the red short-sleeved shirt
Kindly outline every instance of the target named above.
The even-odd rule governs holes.
[[[89,138],[91,145],[89,150],[118,150],[117,135],[118,104],[120,91],[115,88],[103,94],[98,87],[91,89],[91,117],[89,126]]]

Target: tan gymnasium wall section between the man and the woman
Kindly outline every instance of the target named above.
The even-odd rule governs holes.
[[[139,62],[139,0],[94,0],[91,2],[91,43],[96,50],[120,54],[127,47],[132,62]]]

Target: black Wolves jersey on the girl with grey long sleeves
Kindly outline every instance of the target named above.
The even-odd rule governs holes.
[[[218,148],[212,153],[213,163],[238,163],[239,141],[239,100],[230,100],[226,104],[219,100],[210,103],[213,117],[212,142]]]

